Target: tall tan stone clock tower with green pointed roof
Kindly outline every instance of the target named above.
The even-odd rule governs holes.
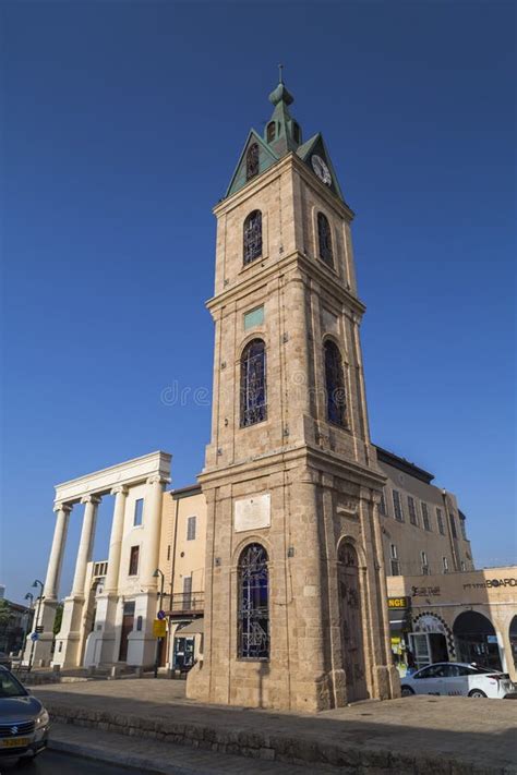
[[[215,208],[205,702],[317,711],[398,691],[390,667],[350,225],[280,77]]]

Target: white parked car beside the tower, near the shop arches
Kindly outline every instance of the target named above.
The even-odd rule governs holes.
[[[507,673],[489,670],[466,662],[438,662],[428,665],[402,678],[400,683],[402,697],[445,694],[502,700],[517,692],[517,686],[510,681]]]

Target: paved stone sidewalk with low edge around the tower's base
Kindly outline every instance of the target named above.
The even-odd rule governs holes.
[[[332,765],[370,775],[517,775],[517,701],[425,695],[310,715],[197,704],[184,699],[183,681],[171,680],[88,681],[34,693],[58,723],[312,772]],[[236,760],[241,770],[251,764]]]

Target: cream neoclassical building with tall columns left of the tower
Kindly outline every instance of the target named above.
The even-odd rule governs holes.
[[[33,650],[33,664],[153,664],[158,590],[155,571],[170,459],[166,452],[154,452],[57,485],[53,541],[36,621],[43,631]],[[107,561],[93,562],[97,509],[106,495],[115,496],[109,556]],[[52,628],[68,525],[79,505],[83,505],[83,513],[75,571],[55,645]],[[27,640],[25,662],[31,650]]]

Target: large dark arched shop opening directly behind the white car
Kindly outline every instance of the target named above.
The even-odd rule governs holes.
[[[485,616],[477,610],[466,610],[456,617],[453,632],[459,662],[503,669],[495,630]]]

